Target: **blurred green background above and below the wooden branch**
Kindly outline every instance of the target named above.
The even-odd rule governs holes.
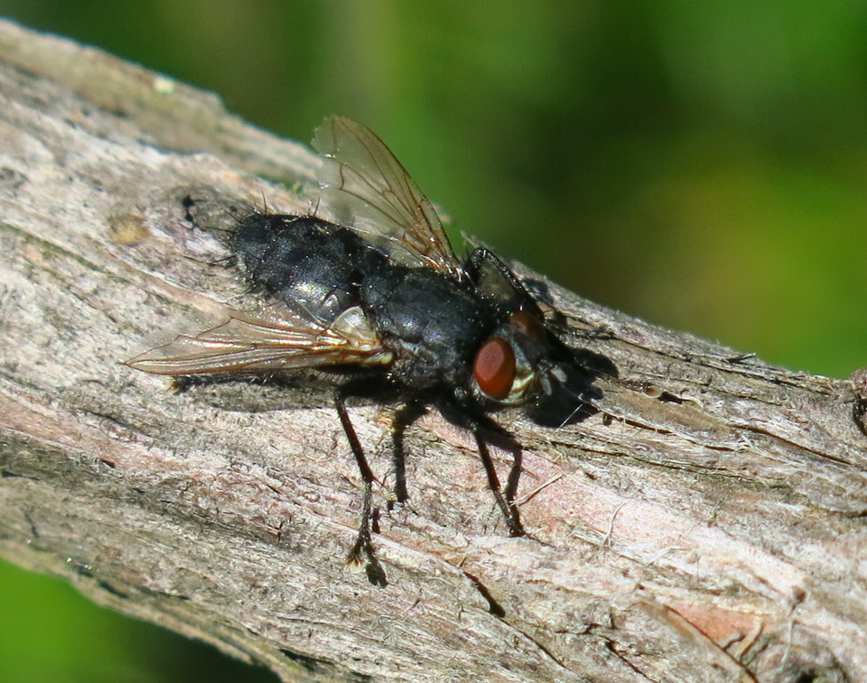
[[[867,358],[867,4],[137,3],[0,13],[309,141],[370,125],[455,228],[811,373]],[[249,678],[247,678],[249,677]],[[0,681],[271,680],[0,566]]]

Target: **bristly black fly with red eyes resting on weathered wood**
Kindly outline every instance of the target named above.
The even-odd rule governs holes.
[[[382,584],[371,540],[374,476],[346,399],[397,394],[404,408],[396,422],[404,427],[434,405],[471,430],[510,534],[522,535],[512,502],[517,479],[505,491],[499,484],[485,437],[502,429],[487,414],[550,398],[566,382],[574,356],[494,253],[478,247],[458,260],[428,198],[374,133],[334,117],[317,129],[313,145],[323,157],[320,202],[337,222],[252,213],[227,239],[237,268],[267,301],[266,312],[236,311],[218,327],[181,335],[127,365],[180,378],[309,368],[331,375],[365,484],[348,562]],[[397,446],[396,438],[395,465],[402,470]],[[395,494],[405,502],[399,472]]]

